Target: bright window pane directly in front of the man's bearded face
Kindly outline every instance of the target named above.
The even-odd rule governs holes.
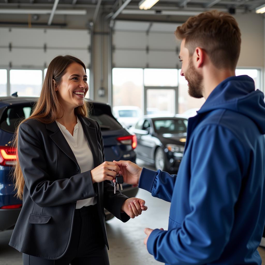
[[[192,117],[196,115],[196,111],[204,104],[205,99],[192,98],[188,93],[188,82],[184,76],[180,75],[181,69],[179,69],[179,113],[184,114],[185,117]],[[187,113],[187,115],[185,114]]]

